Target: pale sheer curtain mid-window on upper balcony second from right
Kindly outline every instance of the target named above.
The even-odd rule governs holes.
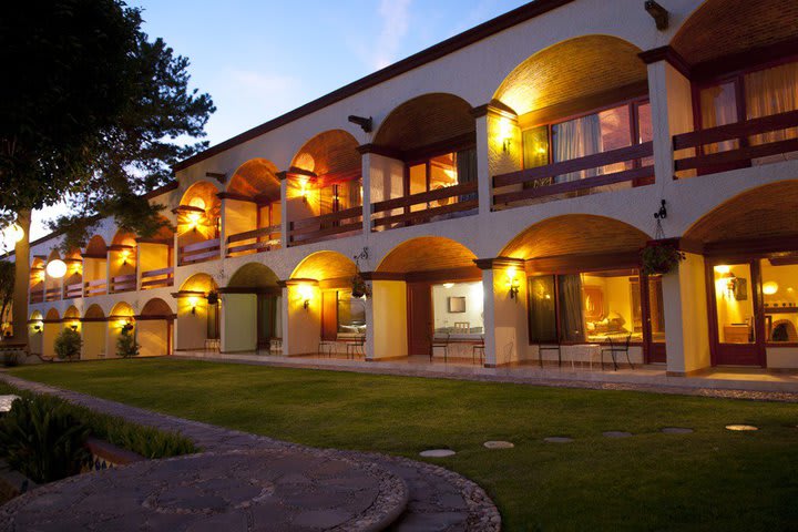
[[[597,114],[570,120],[552,126],[554,141],[554,162],[593,155],[602,151],[601,121]],[[596,170],[584,170],[557,175],[555,183],[584,180],[597,174]]]

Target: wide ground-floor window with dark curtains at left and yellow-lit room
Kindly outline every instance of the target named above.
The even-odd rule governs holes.
[[[640,276],[621,269],[542,275],[529,279],[530,342],[643,341]],[[649,279],[652,337],[664,340],[662,285]]]

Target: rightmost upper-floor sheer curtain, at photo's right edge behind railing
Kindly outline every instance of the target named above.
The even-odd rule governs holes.
[[[747,74],[745,91],[748,119],[797,110],[798,63],[782,64]],[[798,127],[754,135],[750,137],[750,143],[756,145],[790,139],[798,139]]]

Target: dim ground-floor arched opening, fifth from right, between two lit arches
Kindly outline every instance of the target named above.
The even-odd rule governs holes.
[[[222,293],[222,350],[255,351],[276,348],[283,337],[283,290],[277,275],[259,263],[245,264]]]

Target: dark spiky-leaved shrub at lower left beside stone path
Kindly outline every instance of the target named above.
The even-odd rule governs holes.
[[[89,427],[61,403],[23,396],[0,421],[0,452],[9,466],[34,482],[52,482],[80,472],[90,458]]]

